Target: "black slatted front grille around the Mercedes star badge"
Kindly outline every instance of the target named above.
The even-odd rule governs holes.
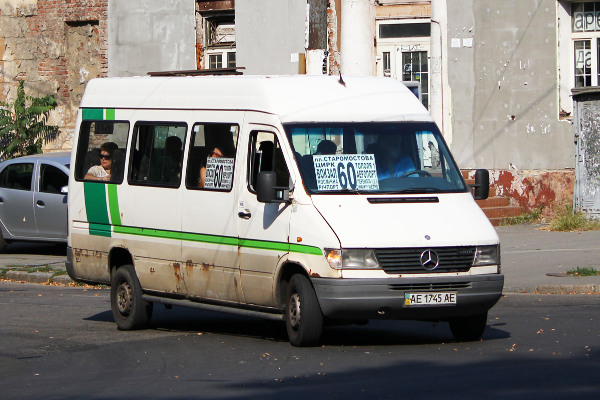
[[[379,264],[386,273],[436,273],[466,272],[475,258],[475,246],[413,247],[375,249]],[[421,265],[421,254],[434,250],[439,256],[439,266],[433,271]]]

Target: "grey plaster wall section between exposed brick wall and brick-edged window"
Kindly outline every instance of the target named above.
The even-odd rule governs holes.
[[[196,69],[194,0],[108,2],[108,76]]]

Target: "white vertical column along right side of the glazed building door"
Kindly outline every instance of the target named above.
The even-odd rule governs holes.
[[[448,87],[448,16],[446,0],[431,0],[431,60],[430,112],[442,131],[446,142],[452,145],[449,118]]]

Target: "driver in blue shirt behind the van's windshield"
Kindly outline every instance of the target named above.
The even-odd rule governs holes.
[[[373,151],[377,166],[377,179],[400,178],[407,172],[416,170],[409,156],[400,150],[400,136],[380,135]]]

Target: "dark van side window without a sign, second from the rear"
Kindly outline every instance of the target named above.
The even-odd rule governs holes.
[[[179,187],[187,125],[143,122],[134,128],[130,184]]]

